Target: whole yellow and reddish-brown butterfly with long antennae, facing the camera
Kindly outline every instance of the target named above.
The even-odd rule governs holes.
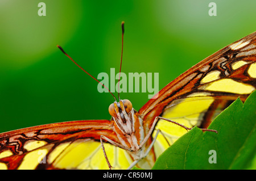
[[[207,129],[214,117],[238,96],[245,101],[255,88],[256,32],[185,71],[139,111],[130,100],[119,98],[109,106],[110,120],[68,121],[1,133],[0,169],[150,169],[192,127],[217,133]]]

